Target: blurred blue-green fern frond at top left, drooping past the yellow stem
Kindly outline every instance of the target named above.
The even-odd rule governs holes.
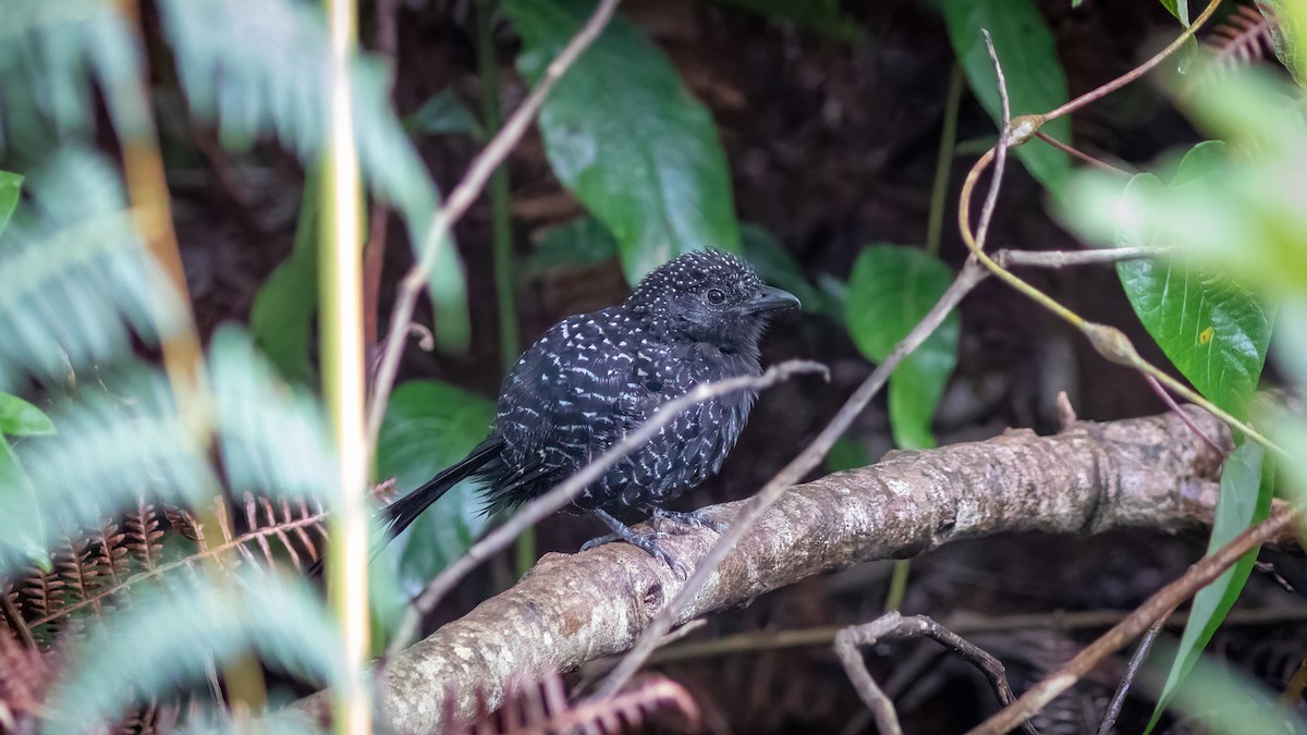
[[[332,68],[318,8],[294,0],[163,0],[163,27],[191,110],[217,120],[223,143],[276,135],[302,161],[323,152]],[[356,144],[372,191],[395,204],[414,248],[427,239],[439,195],[387,101],[383,63],[359,56],[350,69]],[[448,237],[431,268],[438,335],[465,340],[467,285]]]

